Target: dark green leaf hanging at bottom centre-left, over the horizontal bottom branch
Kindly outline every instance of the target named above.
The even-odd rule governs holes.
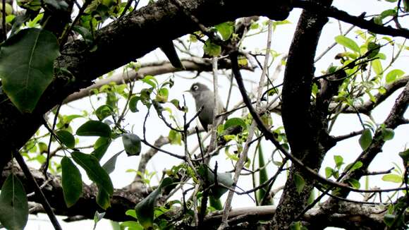
[[[157,189],[150,193],[145,199],[135,206],[136,217],[138,222],[145,228],[149,229],[153,226],[154,221],[154,206],[157,198],[161,194],[162,188],[169,186],[173,180],[169,177],[164,178]]]

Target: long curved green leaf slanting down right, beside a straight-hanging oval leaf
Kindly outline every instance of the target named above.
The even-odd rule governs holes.
[[[87,155],[82,152],[72,152],[71,156],[74,161],[79,164],[91,181],[97,183],[98,194],[97,194],[97,203],[103,209],[109,207],[109,197],[114,193],[114,186],[112,186],[111,178],[106,173],[98,162],[98,159],[92,155]],[[108,199],[108,202],[106,200]]]

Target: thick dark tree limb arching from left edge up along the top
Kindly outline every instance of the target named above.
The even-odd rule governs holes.
[[[260,4],[250,4],[245,8],[233,0],[182,2],[185,10],[190,11],[203,25],[216,25],[253,15],[283,20],[291,11],[290,1],[286,0],[274,3],[260,1]],[[88,87],[100,75],[151,52],[163,41],[195,32],[197,25],[187,19],[185,13],[171,1],[157,1],[97,31],[94,39],[97,50],[93,52],[89,51],[90,47],[83,40],[66,44],[55,66],[67,69],[73,76],[58,73],[32,114],[21,114],[6,95],[0,95],[0,145],[6,147],[4,152],[20,149],[39,128],[42,115],[68,95]],[[10,155],[1,155],[0,169],[10,159]]]

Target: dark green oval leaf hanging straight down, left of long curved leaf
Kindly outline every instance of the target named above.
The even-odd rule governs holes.
[[[78,201],[83,193],[83,180],[80,170],[68,157],[61,159],[63,195],[67,207],[71,207]]]

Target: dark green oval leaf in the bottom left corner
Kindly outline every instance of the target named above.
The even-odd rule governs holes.
[[[10,174],[0,193],[0,222],[6,229],[24,229],[28,220],[28,200],[23,184]]]

